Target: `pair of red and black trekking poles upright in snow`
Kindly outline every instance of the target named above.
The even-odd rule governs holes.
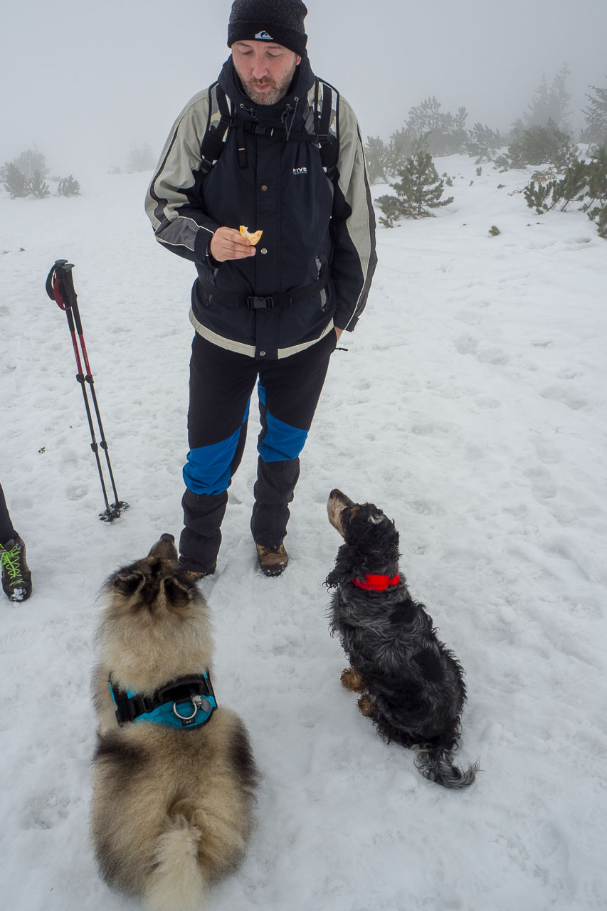
[[[99,405],[97,401],[97,394],[95,392],[95,380],[93,379],[93,374],[91,374],[90,364],[88,363],[87,346],[85,344],[84,335],[82,333],[82,322],[80,321],[80,312],[78,310],[77,296],[74,289],[74,279],[72,277],[73,268],[73,263],[67,262],[67,260],[57,260],[51,271],[48,273],[48,277],[46,279],[46,293],[48,294],[51,301],[55,301],[57,303],[57,306],[63,310],[67,316],[67,326],[69,327],[69,333],[72,338],[72,346],[74,348],[74,355],[76,357],[76,379],[78,384],[80,384],[80,388],[82,389],[82,397],[84,399],[85,409],[87,412],[88,429],[90,430],[92,440],[90,447],[93,450],[95,459],[97,461],[101,490],[103,491],[103,498],[106,504],[105,511],[99,513],[99,518],[104,522],[113,522],[115,518],[118,518],[124,509],[129,508],[129,504],[125,503],[123,500],[118,500],[118,491],[116,489],[116,482],[114,481],[114,473],[112,472],[112,466],[109,461],[108,443],[106,442],[105,434],[103,432],[103,425],[101,424],[101,415],[99,414]],[[80,350],[82,351],[82,359],[87,371],[86,374],[82,369],[82,361],[80,360],[78,343],[80,345]],[[99,443],[97,442],[97,438],[95,436],[95,427],[93,426],[93,418],[90,411],[90,405],[88,404],[86,384],[88,384],[90,388],[90,396],[93,402],[93,407],[95,409],[95,416],[97,417],[99,435],[101,436]],[[114,503],[111,504],[108,501],[108,490],[103,477],[103,470],[101,468],[99,446],[106,454],[109,479],[111,482],[112,490],[114,492]]]

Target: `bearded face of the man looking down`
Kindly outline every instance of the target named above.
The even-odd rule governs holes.
[[[235,41],[231,58],[245,92],[257,105],[275,105],[286,95],[302,59],[269,41]]]

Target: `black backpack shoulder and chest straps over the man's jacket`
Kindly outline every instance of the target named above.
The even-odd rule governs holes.
[[[314,77],[314,85],[308,92],[308,104],[314,111],[314,132],[294,132],[284,127],[260,127],[259,124],[243,122],[234,113],[230,98],[214,82],[209,87],[209,117],[207,128],[201,141],[201,172],[206,177],[231,134],[236,129],[242,141],[239,141],[238,159],[241,168],[246,168],[246,149],[244,132],[259,133],[275,138],[296,139],[300,142],[311,142],[320,149],[321,162],[326,176],[333,180],[337,176],[339,159],[339,92],[323,79]]]

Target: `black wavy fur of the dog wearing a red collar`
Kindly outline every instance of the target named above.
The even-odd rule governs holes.
[[[463,670],[437,640],[424,605],[411,598],[401,574],[385,591],[353,584],[366,574],[398,575],[398,532],[372,503],[353,503],[333,490],[329,520],[345,540],[326,585],[331,630],[350,661],[342,674],[347,690],[361,693],[360,711],[373,719],[387,741],[417,753],[417,767],[430,781],[448,788],[474,781],[478,765],[463,771],[453,764],[461,711],[466,700]]]

